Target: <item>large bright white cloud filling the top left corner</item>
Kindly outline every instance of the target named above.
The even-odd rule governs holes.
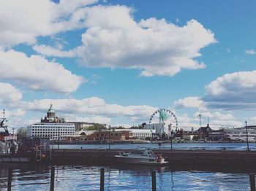
[[[3,0],[0,1],[0,45],[37,42],[37,36],[48,36],[80,28],[83,7],[97,0]],[[28,6],[29,5],[29,6]]]

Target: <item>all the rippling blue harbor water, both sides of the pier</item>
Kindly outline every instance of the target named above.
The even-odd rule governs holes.
[[[54,146],[56,147],[56,145]],[[60,145],[72,149],[108,149],[108,145]],[[151,147],[158,144],[111,144],[113,149]],[[255,144],[249,144],[255,149]],[[173,144],[174,149],[246,149],[246,144]],[[170,149],[162,144],[161,149]],[[12,190],[50,190],[50,165],[12,165]],[[8,164],[0,163],[0,190],[7,190]],[[55,166],[55,190],[99,190],[100,169],[105,168],[105,190],[151,190],[151,173],[156,171],[157,190],[250,190],[249,174],[256,171],[233,171],[225,167],[216,170],[191,168],[176,169],[176,164],[165,167],[143,165],[59,165]]]

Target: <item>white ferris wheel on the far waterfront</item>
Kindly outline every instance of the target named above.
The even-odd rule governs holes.
[[[149,120],[151,129],[155,129],[159,136],[165,133],[168,137],[171,136],[171,130],[178,129],[178,120],[176,115],[169,109],[158,109],[154,112]]]

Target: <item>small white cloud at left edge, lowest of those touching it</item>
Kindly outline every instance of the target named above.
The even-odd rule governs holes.
[[[1,69],[0,69],[1,70]],[[0,82],[0,104],[2,106],[15,105],[21,101],[22,93],[11,84]]]

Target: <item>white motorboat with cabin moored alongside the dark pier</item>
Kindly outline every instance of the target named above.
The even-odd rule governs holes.
[[[119,152],[115,155],[119,163],[145,164],[145,165],[165,165],[168,162],[162,155],[155,155],[151,149],[133,149],[131,152]]]

